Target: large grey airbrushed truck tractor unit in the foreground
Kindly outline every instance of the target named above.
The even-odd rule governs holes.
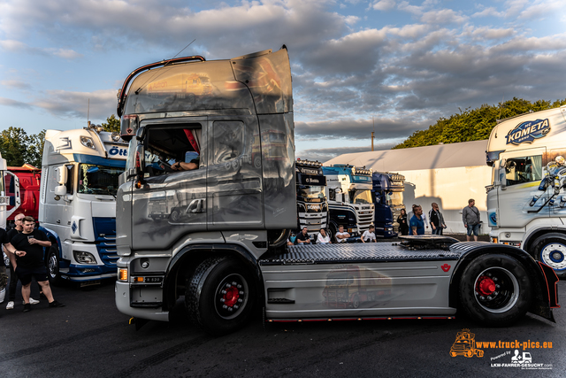
[[[180,82],[196,76],[206,90]],[[157,62],[126,78],[116,305],[136,326],[168,321],[181,297],[188,319],[216,335],[261,311],[266,321],[447,319],[457,308],[495,326],[525,312],[553,320],[554,272],[509,245],[440,235],[287,245],[297,188],[316,183],[325,197],[318,164],[297,181],[292,105],[285,46]],[[359,175],[369,192],[371,173]],[[354,187],[345,193],[365,195]]]

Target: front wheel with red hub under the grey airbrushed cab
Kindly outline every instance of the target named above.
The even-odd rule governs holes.
[[[212,335],[240,329],[256,299],[256,282],[235,258],[208,258],[187,278],[190,320]]]

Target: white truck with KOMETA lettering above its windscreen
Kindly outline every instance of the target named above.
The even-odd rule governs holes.
[[[486,150],[493,243],[514,245],[566,277],[566,105],[502,120]]]

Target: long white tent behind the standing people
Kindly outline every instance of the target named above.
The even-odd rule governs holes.
[[[432,202],[440,205],[447,233],[464,233],[462,209],[474,198],[488,233],[486,185],[492,170],[486,166],[487,140],[438,144],[401,150],[379,150],[340,155],[325,162],[365,166],[373,171],[395,172],[405,176],[404,204],[420,204],[428,213]],[[429,231],[430,232],[430,228]]]

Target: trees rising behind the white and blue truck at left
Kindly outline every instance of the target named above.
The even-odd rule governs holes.
[[[120,120],[114,114],[101,125],[104,131],[120,131]],[[42,167],[45,130],[37,134],[27,134],[22,127],[8,127],[0,132],[0,153],[8,166],[31,164]]]

